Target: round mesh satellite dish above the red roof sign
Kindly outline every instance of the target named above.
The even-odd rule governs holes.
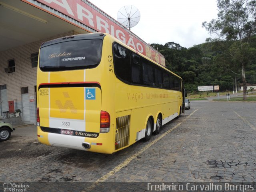
[[[131,30],[140,21],[140,11],[133,5],[123,6],[117,13],[117,20]]]

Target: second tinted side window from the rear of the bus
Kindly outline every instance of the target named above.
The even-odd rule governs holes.
[[[142,84],[142,73],[141,73],[141,64],[140,56],[137,54],[132,54],[132,82],[136,84]]]

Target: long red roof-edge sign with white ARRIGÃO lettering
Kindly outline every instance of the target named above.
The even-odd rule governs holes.
[[[113,22],[106,14],[106,16],[96,9],[90,7],[82,0],[37,0],[54,10],[62,12],[63,14],[85,24],[86,26],[103,33],[111,34],[124,44],[134,48],[136,51],[144,54],[148,58],[165,66],[164,56],[156,52],[148,44],[140,41],[131,33],[124,30],[124,26],[120,23]],[[118,24],[117,24],[118,23]]]

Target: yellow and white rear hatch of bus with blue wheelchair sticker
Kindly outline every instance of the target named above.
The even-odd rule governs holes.
[[[100,132],[98,87],[50,87],[39,90],[40,126]]]

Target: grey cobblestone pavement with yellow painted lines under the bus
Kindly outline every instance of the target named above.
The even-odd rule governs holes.
[[[192,101],[150,141],[114,154],[45,146],[35,126],[17,128],[0,143],[0,182],[256,182],[255,114],[255,102]]]

